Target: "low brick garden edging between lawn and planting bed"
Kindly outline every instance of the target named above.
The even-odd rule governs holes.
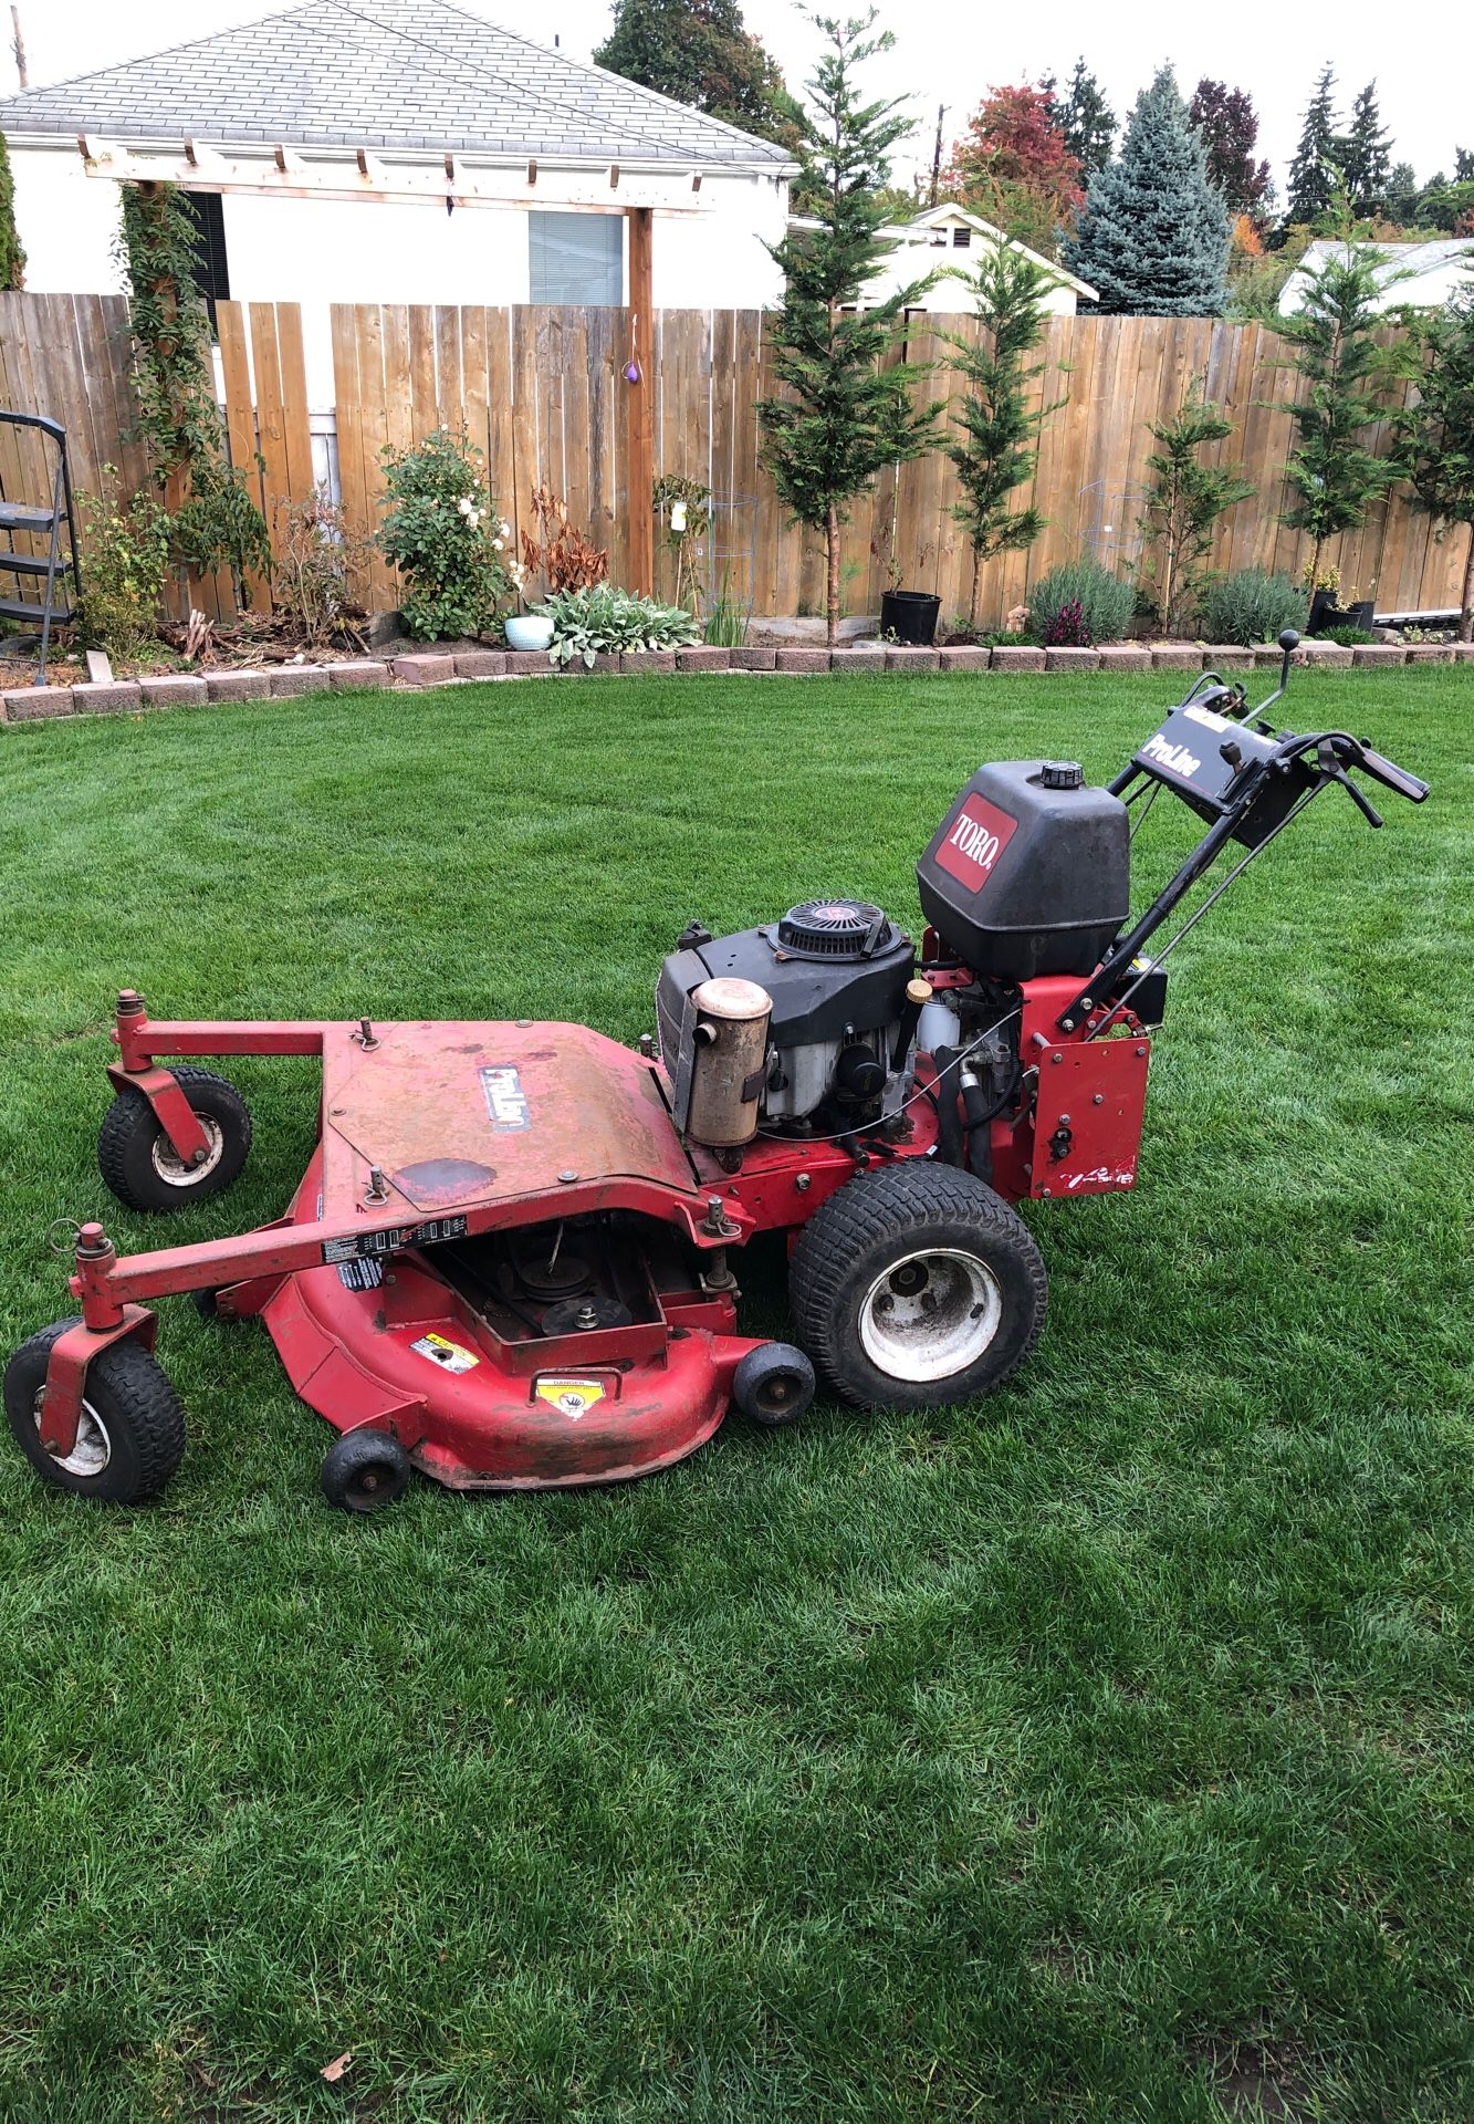
[[[584,665],[554,669],[546,650],[425,650],[380,663],[357,656],[333,665],[278,665],[274,671],[210,671],[204,678],[170,673],[142,680],[113,680],[106,686],[17,686],[0,695],[0,722],[38,722],[55,716],[132,714],[144,707],[187,707],[204,701],[289,699],[304,692],[348,692],[363,686],[395,686],[423,692],[433,686],[463,686],[474,680],[520,678],[597,678],[597,675],[661,675],[701,671],[1015,671],[1047,678],[1060,671],[1249,671],[1279,665],[1274,644],[1238,648],[1217,644],[1198,648],[1192,641],[1162,646],[1115,644],[1102,650],[1036,650],[1036,648],[737,648],[697,646],[688,650],[641,650],[624,656],[599,656],[593,673]],[[1340,648],[1336,641],[1304,641],[1293,661],[1325,671],[1385,669],[1389,665],[1474,663],[1474,641],[1395,641]]]

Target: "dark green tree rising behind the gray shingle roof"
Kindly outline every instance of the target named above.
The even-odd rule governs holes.
[[[796,149],[801,113],[737,0],[618,0],[595,66]]]

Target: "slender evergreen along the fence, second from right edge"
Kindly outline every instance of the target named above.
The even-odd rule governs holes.
[[[1293,367],[1306,384],[1289,408],[1296,446],[1285,465],[1298,501],[1281,520],[1313,542],[1310,584],[1321,571],[1325,542],[1359,529],[1368,508],[1398,478],[1395,461],[1364,442],[1381,418],[1378,384],[1389,367],[1374,340],[1383,289],[1378,268],[1387,263],[1387,253],[1353,240],[1344,191],[1338,206],[1342,242],[1306,278],[1300,308],[1279,327],[1296,346]]]

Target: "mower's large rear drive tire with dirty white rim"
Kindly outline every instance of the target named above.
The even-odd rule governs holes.
[[[847,1181],[788,1266],[799,1338],[847,1402],[935,1408],[998,1387],[1039,1340],[1049,1283],[1028,1226],[956,1166]]]

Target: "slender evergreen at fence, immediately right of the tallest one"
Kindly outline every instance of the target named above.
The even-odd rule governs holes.
[[[1026,365],[1045,336],[1045,295],[1053,278],[1009,244],[988,251],[977,268],[973,316],[979,338],[947,333],[952,374],[964,397],[952,414],[956,438],[943,442],[962,486],[952,514],[973,548],[969,627],[977,624],[977,584],[983,561],[1022,552],[1047,525],[1036,508],[1015,510],[1015,489],[1034,476],[1039,429],[1064,406],[1030,404],[1045,363]]]

